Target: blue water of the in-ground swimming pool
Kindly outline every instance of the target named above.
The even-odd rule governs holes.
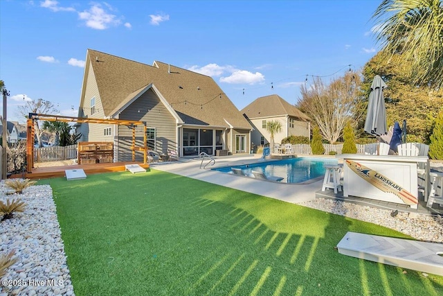
[[[261,171],[264,175],[283,177],[283,183],[302,183],[323,177],[325,165],[337,164],[337,159],[323,157],[298,157],[276,160],[271,162],[258,162],[242,166],[225,166],[213,168],[214,171],[232,173],[230,168],[240,168],[245,175],[252,175],[251,171]]]

